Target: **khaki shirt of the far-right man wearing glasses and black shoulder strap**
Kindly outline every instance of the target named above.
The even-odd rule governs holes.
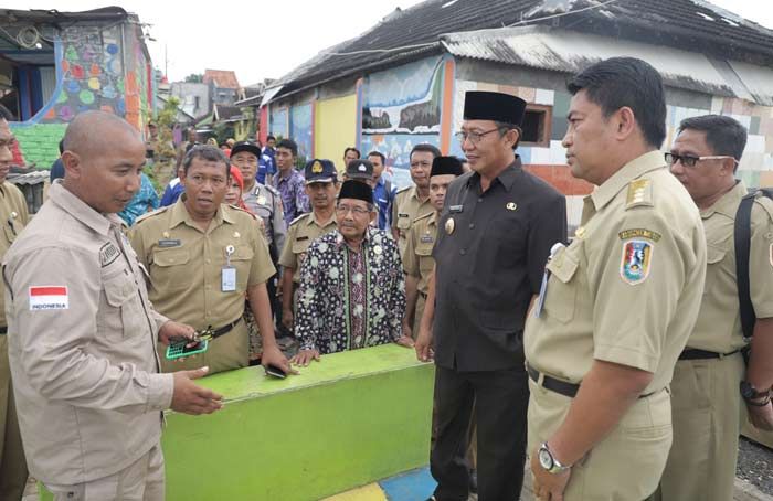
[[[746,188],[738,182],[700,213],[707,242],[707,271],[700,313],[687,348],[730,353],[745,344],[735,277],[735,213]],[[773,201],[760,196],[752,206],[749,284],[758,318],[773,317]]]

